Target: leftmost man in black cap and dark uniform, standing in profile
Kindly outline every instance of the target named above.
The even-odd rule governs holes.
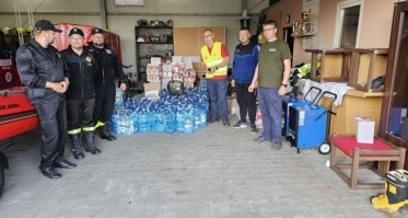
[[[39,171],[49,179],[61,177],[56,168],[71,169],[75,164],[63,158],[67,140],[67,106],[65,92],[69,71],[58,50],[51,46],[57,30],[51,22],[40,20],[34,25],[34,39],[16,51],[18,71],[27,96],[37,111],[42,130]]]

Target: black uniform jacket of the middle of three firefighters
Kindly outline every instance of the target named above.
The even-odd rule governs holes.
[[[61,57],[70,72],[70,83],[66,92],[67,100],[90,100],[95,97],[95,77],[97,61],[88,48],[81,55],[72,50],[71,46],[61,51]]]

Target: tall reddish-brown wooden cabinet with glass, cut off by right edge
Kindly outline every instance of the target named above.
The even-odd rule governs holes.
[[[408,108],[408,2],[394,4],[380,137],[404,148],[407,142]],[[408,170],[408,161],[405,162]]]

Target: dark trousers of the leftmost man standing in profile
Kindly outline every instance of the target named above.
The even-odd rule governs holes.
[[[39,103],[34,106],[43,130],[39,169],[45,169],[63,158],[67,140],[67,107],[65,101]]]

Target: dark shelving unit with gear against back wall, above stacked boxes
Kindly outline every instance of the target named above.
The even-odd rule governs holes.
[[[171,59],[174,53],[173,27],[135,26],[138,80],[145,80],[145,66],[151,57]]]

